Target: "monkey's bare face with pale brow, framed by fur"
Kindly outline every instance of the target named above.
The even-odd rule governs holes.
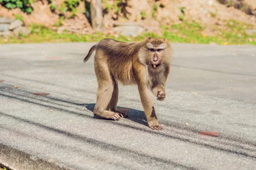
[[[153,41],[147,43],[148,59],[150,58],[150,64],[154,69],[159,68],[161,65],[163,54],[167,47],[166,43],[161,42],[158,40],[157,42]]]

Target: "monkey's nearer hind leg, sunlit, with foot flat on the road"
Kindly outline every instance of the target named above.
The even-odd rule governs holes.
[[[114,82],[108,67],[99,67],[99,64],[96,64],[95,72],[99,87],[97,90],[96,105],[93,109],[93,113],[105,119],[119,120],[121,118],[119,113],[106,111],[109,102],[111,101],[114,88]]]

